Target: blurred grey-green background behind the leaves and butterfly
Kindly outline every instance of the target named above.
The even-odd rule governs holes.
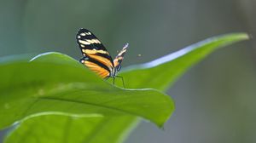
[[[129,66],[224,33],[255,37],[255,8],[253,0],[0,0],[0,56],[57,51],[79,60],[84,27],[113,56],[130,43]],[[254,40],[211,54],[168,91],[176,111],[165,130],[143,122],[125,142],[256,142],[255,61]]]

